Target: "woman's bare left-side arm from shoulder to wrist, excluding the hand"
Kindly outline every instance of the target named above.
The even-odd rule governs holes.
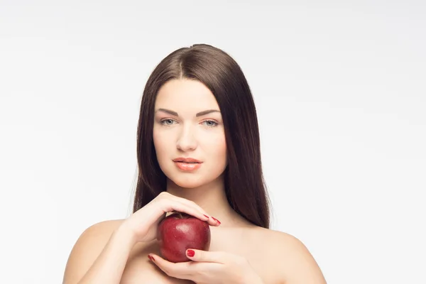
[[[120,221],[89,227],[73,247],[64,284],[118,284],[135,241]]]

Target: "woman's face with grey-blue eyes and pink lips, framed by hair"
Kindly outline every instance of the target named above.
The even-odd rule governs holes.
[[[170,80],[155,101],[153,141],[167,178],[194,188],[219,181],[227,165],[224,124],[212,92],[199,81]],[[193,158],[200,163],[183,163]]]

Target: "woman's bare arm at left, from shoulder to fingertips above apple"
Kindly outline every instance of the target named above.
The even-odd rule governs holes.
[[[207,216],[190,200],[161,192],[127,219],[95,224],[83,232],[68,258],[63,284],[118,284],[133,246],[156,239],[158,223],[167,212],[185,212],[208,222]]]

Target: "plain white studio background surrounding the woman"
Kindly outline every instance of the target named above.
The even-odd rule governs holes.
[[[272,229],[328,283],[426,283],[425,1],[240,2],[0,1],[0,283],[128,216],[143,87],[194,43],[249,80]]]

